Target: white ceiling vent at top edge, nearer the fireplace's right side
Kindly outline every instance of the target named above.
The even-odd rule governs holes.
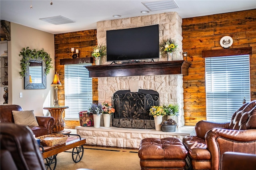
[[[150,1],[142,2],[150,11],[159,11],[159,10],[168,10],[173,8],[179,8],[174,0],[159,0],[159,1]]]

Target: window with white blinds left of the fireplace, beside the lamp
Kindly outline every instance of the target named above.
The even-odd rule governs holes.
[[[92,78],[84,67],[91,64],[65,65],[65,120],[78,120],[79,112],[92,103]]]

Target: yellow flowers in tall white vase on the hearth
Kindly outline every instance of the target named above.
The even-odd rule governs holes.
[[[161,130],[160,124],[163,120],[163,116],[166,115],[164,108],[162,106],[152,106],[149,109],[149,115],[154,117],[156,130]]]

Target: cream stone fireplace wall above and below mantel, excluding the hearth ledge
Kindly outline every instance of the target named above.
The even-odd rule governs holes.
[[[135,28],[156,24],[159,24],[159,42],[162,42],[166,38],[175,40],[178,44],[178,51],[174,53],[174,58],[175,60],[183,60],[182,18],[176,12],[97,22],[98,44],[106,45],[107,30]],[[158,61],[167,61],[167,56],[160,55]],[[103,57],[101,64],[108,65],[110,62],[106,62],[106,57]],[[178,118],[179,127],[184,125],[182,75],[98,77],[98,101],[111,101],[116,91],[130,90],[130,81],[138,81],[138,89],[157,91],[159,93],[160,105],[170,103],[178,104],[180,108],[180,117]]]

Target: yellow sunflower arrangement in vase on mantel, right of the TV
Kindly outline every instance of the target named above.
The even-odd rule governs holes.
[[[172,53],[177,50],[178,44],[174,40],[171,40],[171,38],[164,40],[160,44],[160,51],[161,54],[166,53],[167,54],[167,61],[172,61]]]

